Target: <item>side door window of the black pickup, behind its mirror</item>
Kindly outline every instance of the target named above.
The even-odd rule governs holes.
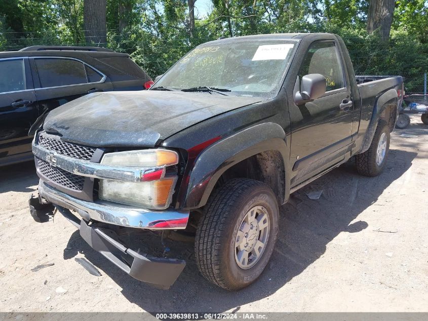
[[[321,74],[326,78],[326,91],[345,87],[343,70],[334,42],[315,42],[310,47],[300,69],[300,79],[309,74]]]

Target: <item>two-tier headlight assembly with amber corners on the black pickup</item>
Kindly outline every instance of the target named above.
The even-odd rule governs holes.
[[[101,164],[136,168],[162,168],[178,163],[178,154],[169,150],[142,150],[105,154]],[[99,198],[128,205],[164,209],[171,203],[177,176],[157,181],[120,182],[100,180]]]

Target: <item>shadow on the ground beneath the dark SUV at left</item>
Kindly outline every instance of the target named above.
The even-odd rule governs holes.
[[[0,193],[33,192],[37,184],[34,161],[0,167]]]

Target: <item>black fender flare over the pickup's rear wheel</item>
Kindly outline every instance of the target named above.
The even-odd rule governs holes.
[[[376,131],[376,127],[380,119],[380,115],[391,104],[398,106],[398,94],[397,90],[395,89],[390,89],[381,94],[379,98],[377,98],[374,104],[373,114],[369,123],[369,127],[367,128],[366,135],[363,140],[363,145],[359,154],[364,153],[369,149],[373,140],[374,132]]]

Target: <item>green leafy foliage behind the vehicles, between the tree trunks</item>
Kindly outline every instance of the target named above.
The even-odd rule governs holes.
[[[0,50],[86,45],[85,0],[0,0]],[[187,0],[107,0],[107,47],[125,52],[152,77],[201,43],[218,37],[333,32],[345,41],[356,74],[402,75],[422,91],[428,65],[428,3],[398,0],[390,40],[367,34],[369,0],[212,0],[190,32]],[[197,2],[198,5],[198,2]]]

